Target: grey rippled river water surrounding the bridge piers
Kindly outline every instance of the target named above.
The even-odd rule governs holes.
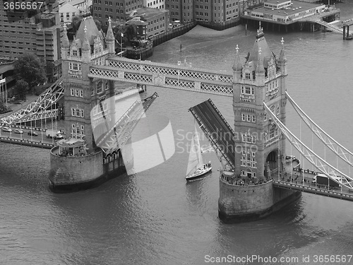
[[[336,6],[342,10],[342,20],[353,17],[352,3]],[[255,36],[256,28],[245,35],[243,26],[222,32],[195,28],[155,47],[150,60],[177,64],[186,58],[191,67],[231,73],[236,45],[244,58]],[[352,151],[353,40],[344,41],[338,33],[265,31],[277,56],[282,37],[287,91]],[[155,91],[160,96],[148,112],[170,119],[174,155],[150,170],[117,177],[95,189],[53,194],[47,183],[48,150],[0,143],[1,264],[200,265],[215,264],[211,261],[217,257],[239,261],[251,255],[264,260],[242,259],[241,264],[353,264],[353,258],[348,263],[353,254],[350,201],[303,193],[299,201],[263,220],[222,223],[217,217],[217,157],[206,153],[212,174],[186,184],[189,154],[184,147],[193,131],[189,107],[212,98],[232,126],[232,98],[148,87],[149,95]],[[311,145],[311,133],[300,133],[299,118],[288,104],[287,126]],[[201,143],[208,145],[205,139]],[[287,152],[297,155],[289,143]],[[309,163],[307,167],[311,168]],[[340,259],[345,255],[347,260],[315,262],[315,255]],[[265,263],[269,257],[287,260]]]

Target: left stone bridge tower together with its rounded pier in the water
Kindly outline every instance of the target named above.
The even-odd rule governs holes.
[[[104,65],[115,54],[110,20],[104,36],[92,17],[83,18],[71,43],[64,28],[61,54],[66,139],[58,141],[50,153],[49,188],[53,192],[94,187],[125,171],[119,153],[104,158],[102,150],[95,148],[91,124],[92,107],[114,95],[114,81],[88,77],[92,64]]]

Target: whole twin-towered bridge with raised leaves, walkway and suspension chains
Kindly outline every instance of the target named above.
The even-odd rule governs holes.
[[[10,126],[53,117],[57,110],[52,104],[64,96],[66,140],[50,153],[49,186],[54,192],[92,187],[125,172],[121,147],[157,97],[154,93],[140,102],[130,98],[131,104],[118,115],[119,100],[131,93],[119,93],[116,84],[127,81],[233,97],[234,127],[212,100],[189,109],[221,163],[218,208],[225,222],[264,218],[298,199],[301,192],[353,201],[352,177],[320,158],[285,126],[290,102],[337,160],[353,166],[353,153],[328,136],[287,93],[284,41],[276,57],[261,26],[245,61],[236,48],[233,74],[116,57],[110,23],[104,35],[92,18],[83,19],[73,42],[65,29],[61,49],[62,78],[35,102],[0,119],[1,126]],[[286,142],[318,172],[337,182],[340,191],[304,182],[304,175],[302,182],[294,182],[286,171]]]

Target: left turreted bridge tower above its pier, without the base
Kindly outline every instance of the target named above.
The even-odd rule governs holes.
[[[84,139],[88,150],[95,146],[90,111],[98,102],[114,95],[114,82],[88,77],[91,64],[104,65],[115,54],[114,35],[109,20],[107,35],[98,30],[92,17],[83,18],[70,43],[66,28],[61,45],[65,98],[66,138]]]

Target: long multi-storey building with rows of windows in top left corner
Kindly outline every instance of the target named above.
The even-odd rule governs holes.
[[[29,52],[44,61],[49,81],[61,76],[60,20],[55,1],[27,1],[23,9],[0,1],[0,58],[13,60]]]

